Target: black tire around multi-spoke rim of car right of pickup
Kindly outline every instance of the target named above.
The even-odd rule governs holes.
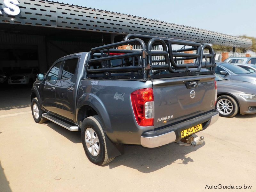
[[[218,106],[220,106],[220,104],[219,104],[218,102],[221,101],[221,100],[230,101],[230,103],[231,103],[232,106],[233,106],[231,113],[229,113],[230,111],[228,111],[229,114],[223,114],[223,113],[225,113],[225,112],[223,112],[224,108],[223,108],[223,110],[219,110],[220,107],[218,107]],[[229,105],[230,105],[230,104],[229,104]],[[227,107],[227,106],[226,106],[226,107]],[[238,113],[238,111],[239,111],[239,105],[238,105],[237,101],[236,101],[233,97],[231,97],[231,96],[229,96],[229,95],[221,95],[221,96],[219,96],[219,97],[217,98],[217,102],[216,102],[215,108],[219,111],[219,115],[220,115],[221,117],[233,117],[233,116],[235,116],[235,115]],[[227,113],[227,112],[226,112],[226,113]]]

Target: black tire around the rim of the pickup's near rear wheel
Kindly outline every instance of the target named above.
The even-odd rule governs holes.
[[[97,156],[93,156],[86,146],[85,140],[87,140],[87,139],[90,140],[85,135],[85,131],[87,130],[87,128],[89,128],[89,129],[91,128],[96,133],[96,135],[94,135],[94,136],[96,136],[99,140],[99,142],[97,142],[97,145],[99,146],[99,152],[98,152]],[[102,126],[99,116],[95,115],[95,116],[90,116],[90,117],[87,117],[86,119],[84,119],[82,128],[81,128],[81,138],[82,138],[82,143],[84,146],[85,155],[92,163],[94,163],[96,165],[104,165],[104,164],[110,163],[111,161],[113,161],[115,159],[115,157],[108,158],[107,145],[106,145],[106,140],[105,140],[106,135],[103,131],[103,126]]]

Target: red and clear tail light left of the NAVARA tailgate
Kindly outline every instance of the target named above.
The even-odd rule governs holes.
[[[154,95],[153,89],[140,89],[131,93],[132,108],[137,123],[140,126],[154,125]]]

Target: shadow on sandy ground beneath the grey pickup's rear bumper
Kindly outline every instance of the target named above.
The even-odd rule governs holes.
[[[180,146],[178,143],[170,143],[158,148],[145,148],[142,146],[124,145],[124,155],[118,156],[110,164],[109,169],[120,165],[137,169],[142,173],[157,171],[171,164],[193,163],[188,154],[204,146]],[[177,162],[176,162],[177,161]]]

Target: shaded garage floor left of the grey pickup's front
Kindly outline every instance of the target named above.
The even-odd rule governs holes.
[[[31,106],[30,87],[15,86],[0,90],[0,110],[26,108]]]

